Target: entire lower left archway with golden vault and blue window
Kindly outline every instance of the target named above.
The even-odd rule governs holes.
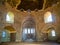
[[[14,42],[16,40],[16,30],[12,26],[5,26],[1,31],[1,42]]]

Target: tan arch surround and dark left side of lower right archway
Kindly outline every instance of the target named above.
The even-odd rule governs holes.
[[[49,32],[51,31],[51,29],[55,29],[54,25],[44,25],[41,29],[41,34],[43,36],[43,41],[49,41]]]

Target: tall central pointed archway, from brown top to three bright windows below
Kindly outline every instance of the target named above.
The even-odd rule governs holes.
[[[27,16],[22,24],[22,40],[36,41],[36,26],[32,16]]]

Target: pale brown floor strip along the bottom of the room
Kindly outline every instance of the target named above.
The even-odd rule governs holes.
[[[53,42],[10,42],[10,43],[1,43],[0,45],[60,45]]]

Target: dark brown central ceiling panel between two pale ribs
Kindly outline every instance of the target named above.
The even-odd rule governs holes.
[[[21,0],[21,3],[18,5],[17,9],[42,9],[44,0]]]

